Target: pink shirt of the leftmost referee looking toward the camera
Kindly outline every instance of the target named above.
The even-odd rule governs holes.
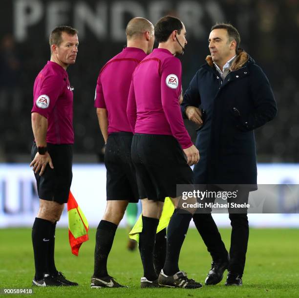
[[[47,143],[74,143],[73,88],[67,72],[59,64],[48,61],[36,77],[31,112],[47,118]]]

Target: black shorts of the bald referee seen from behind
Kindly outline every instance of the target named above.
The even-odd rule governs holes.
[[[113,132],[105,149],[107,200],[138,202],[136,172],[131,161],[131,132]]]

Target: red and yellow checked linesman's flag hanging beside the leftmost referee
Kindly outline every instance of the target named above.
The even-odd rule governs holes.
[[[78,256],[80,246],[88,238],[88,222],[78,206],[73,194],[69,192],[67,201],[68,239],[72,253]]]

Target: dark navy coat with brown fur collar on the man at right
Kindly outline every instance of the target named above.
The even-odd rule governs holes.
[[[256,184],[254,129],[272,120],[277,106],[269,81],[255,61],[240,50],[231,72],[221,80],[211,56],[193,77],[181,105],[206,111],[197,132],[200,160],[196,184]]]

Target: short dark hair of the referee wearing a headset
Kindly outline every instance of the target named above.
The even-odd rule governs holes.
[[[167,42],[173,30],[180,34],[183,29],[182,22],[174,17],[166,16],[160,19],[155,25],[155,39],[157,43]]]

